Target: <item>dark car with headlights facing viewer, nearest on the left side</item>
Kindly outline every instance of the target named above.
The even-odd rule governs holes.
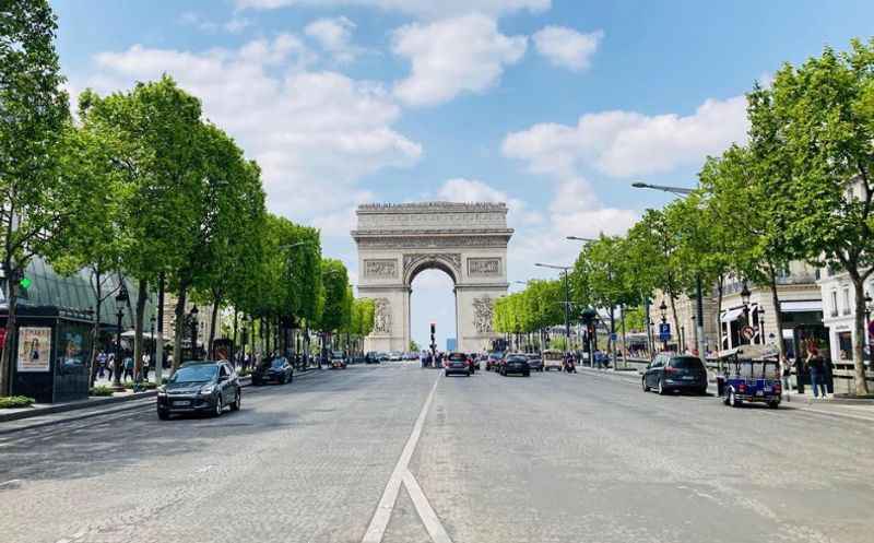
[[[182,413],[220,416],[225,408],[239,410],[241,401],[239,378],[227,362],[187,362],[157,388],[157,417],[166,421]]]

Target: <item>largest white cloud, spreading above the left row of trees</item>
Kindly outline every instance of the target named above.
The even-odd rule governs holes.
[[[98,75],[75,87],[111,92],[168,73],[258,161],[268,205],[311,221],[342,214],[365,198],[359,178],[408,166],[422,147],[392,129],[401,111],[381,85],[308,71],[310,55],[292,35],[202,54],[138,45],[97,55]]]

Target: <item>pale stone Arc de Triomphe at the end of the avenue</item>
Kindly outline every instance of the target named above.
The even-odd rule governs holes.
[[[358,296],[376,302],[367,351],[408,351],[410,294],[427,269],[454,283],[456,338],[460,351],[487,349],[496,298],[507,294],[507,227],[504,203],[378,203],[359,205]],[[424,345],[423,345],[424,347]]]

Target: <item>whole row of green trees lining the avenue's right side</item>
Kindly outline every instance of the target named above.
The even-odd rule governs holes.
[[[846,52],[827,48],[799,67],[786,64],[770,86],[755,85],[747,101],[748,142],[709,157],[696,190],[647,210],[625,236],[602,235],[583,246],[570,274],[574,307],[623,306],[636,314],[660,290],[678,330],[681,295],[694,296],[699,281],[716,285],[719,314],[723,282],[735,276],[770,290],[782,329],[778,282],[791,261],[842,270],[854,287],[857,392],[867,393],[874,39],[853,40]],[[532,303],[521,300],[531,295],[527,290],[501,300],[496,329],[530,327],[516,308],[524,312]]]

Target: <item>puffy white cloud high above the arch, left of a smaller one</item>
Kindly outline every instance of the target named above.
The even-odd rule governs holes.
[[[393,33],[392,51],[410,60],[412,72],[394,95],[410,106],[428,106],[463,92],[482,93],[522,58],[527,43],[525,36],[500,34],[482,14],[402,26]]]

